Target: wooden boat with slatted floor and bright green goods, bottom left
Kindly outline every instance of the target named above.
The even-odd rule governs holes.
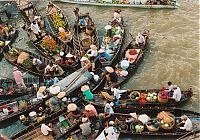
[[[75,101],[77,105],[80,105],[80,100]],[[46,114],[45,110],[40,113],[43,114],[41,117],[37,117],[37,121],[31,122],[29,120],[28,125],[26,126],[26,129],[21,131],[20,133],[12,136],[12,139],[18,139],[18,140],[24,140],[24,139],[35,139],[38,140],[39,138],[43,137],[45,139],[58,139],[65,133],[70,132],[72,129],[77,127],[78,124],[80,124],[80,118],[74,118],[70,115],[70,113],[67,113],[66,104],[63,106],[64,108],[60,109],[59,111],[55,111],[51,114]],[[44,117],[43,117],[44,116]],[[40,121],[38,119],[41,118]],[[46,137],[41,133],[40,127],[41,123],[51,123],[52,124],[52,130],[54,132],[54,135],[51,137]],[[32,135],[33,134],[33,135]],[[40,136],[42,135],[42,136]]]

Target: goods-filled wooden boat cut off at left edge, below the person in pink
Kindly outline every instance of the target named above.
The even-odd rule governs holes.
[[[35,100],[34,98],[34,96],[25,95],[1,104],[0,126],[4,127],[8,122],[12,122],[12,120],[26,112],[31,112],[42,103],[42,101]]]

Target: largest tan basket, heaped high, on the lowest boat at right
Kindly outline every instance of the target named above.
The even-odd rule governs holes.
[[[165,130],[170,130],[175,125],[175,116],[169,112],[162,111],[158,113],[157,119],[159,119],[161,127]]]

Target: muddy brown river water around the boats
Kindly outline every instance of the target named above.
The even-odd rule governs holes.
[[[39,9],[43,9],[46,4],[47,1],[40,1],[37,6],[39,6]],[[79,7],[81,13],[89,12],[96,24],[100,40],[104,32],[104,26],[113,16],[114,7],[89,7],[67,3],[56,4],[69,15],[71,25],[75,18],[73,14],[75,7]],[[123,85],[123,88],[161,88],[166,86],[169,80],[182,90],[186,90],[191,85],[194,96],[181,107],[200,112],[200,2],[199,0],[181,0],[180,4],[181,7],[174,10],[122,8],[121,15],[124,17],[127,31],[125,44],[131,41],[129,33],[136,36],[138,32],[142,32],[144,29],[150,31],[149,51],[137,72],[130,77],[130,80]],[[1,2],[0,5],[2,6]],[[21,21],[21,18],[16,17],[15,23],[18,27],[20,27]],[[30,45],[26,33],[20,28],[19,30],[20,35],[13,46],[36,52],[33,46]],[[0,77],[12,78],[12,66],[6,60],[0,62]],[[16,124],[13,127],[15,126]],[[10,130],[13,130],[11,126],[5,130],[0,129],[0,132],[10,134]],[[147,140],[163,138],[174,139],[131,136],[122,136],[120,139]]]

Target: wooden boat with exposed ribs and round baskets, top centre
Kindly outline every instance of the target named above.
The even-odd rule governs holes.
[[[79,9],[74,10],[76,20],[74,24],[74,35],[73,35],[73,46],[76,53],[83,56],[86,51],[90,48],[90,45],[96,45],[99,48],[98,34],[96,27],[89,13],[79,14]],[[80,21],[87,22],[87,26],[80,26]],[[84,36],[87,35],[86,38]]]

